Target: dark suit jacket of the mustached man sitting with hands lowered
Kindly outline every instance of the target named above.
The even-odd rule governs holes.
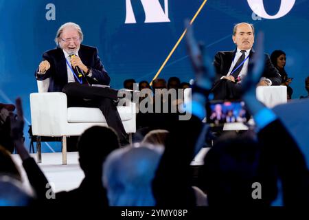
[[[220,80],[222,76],[227,75],[236,52],[237,50],[216,53],[215,58],[214,58],[214,67],[216,69],[216,81]],[[250,61],[250,58],[252,58],[254,53],[255,52],[252,49],[249,54],[249,61]],[[269,58],[268,54],[265,54],[265,66],[264,66],[264,72],[262,76],[270,79],[272,82],[272,85],[280,85],[282,83],[282,80],[278,74],[278,71],[271,63],[271,59]]]

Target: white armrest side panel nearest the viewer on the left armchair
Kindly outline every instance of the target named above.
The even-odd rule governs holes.
[[[32,133],[61,136],[67,125],[67,96],[62,92],[30,94]]]

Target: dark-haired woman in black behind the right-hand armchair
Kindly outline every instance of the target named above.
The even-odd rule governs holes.
[[[278,69],[279,74],[282,78],[282,84],[287,87],[288,99],[292,98],[293,89],[290,87],[290,83],[292,83],[293,78],[288,78],[288,74],[284,67],[286,66],[286,53],[282,50],[274,50],[271,53],[271,63],[273,63],[274,67]]]

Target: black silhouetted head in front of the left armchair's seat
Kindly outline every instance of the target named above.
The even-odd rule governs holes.
[[[102,163],[111,151],[119,148],[117,134],[106,126],[92,126],[78,140],[80,167],[86,177],[100,177]]]

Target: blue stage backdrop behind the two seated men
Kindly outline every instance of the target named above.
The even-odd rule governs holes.
[[[34,70],[43,52],[56,47],[56,31],[68,21],[81,26],[84,44],[98,47],[112,87],[122,87],[126,78],[150,81],[183,33],[184,19],[192,18],[202,3],[0,0],[0,102],[14,102],[16,96],[21,96],[25,118],[31,123],[29,95],[37,91]],[[253,12],[257,10],[261,17]],[[217,51],[235,48],[231,40],[235,23],[253,23],[257,31],[264,31],[268,54],[273,50],[286,52],[286,72],[294,78],[293,98],[299,98],[306,95],[304,78],[309,75],[308,11],[307,0],[208,0],[194,22],[196,38],[205,43],[209,56],[214,56]],[[170,76],[182,81],[193,77],[184,41],[159,77]],[[53,150],[45,144],[43,147],[46,152],[59,151],[60,145]]]

